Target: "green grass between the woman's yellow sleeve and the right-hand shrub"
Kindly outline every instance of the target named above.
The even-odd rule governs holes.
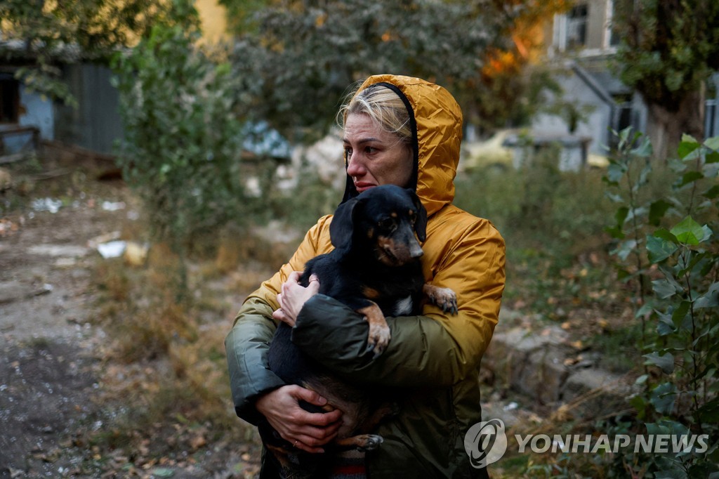
[[[504,308],[561,324],[592,350],[623,352],[608,367],[626,371],[638,352],[620,348],[618,338],[634,330],[633,311],[609,254],[604,228],[615,205],[602,176],[559,172],[548,158],[519,171],[474,170],[458,176],[455,202],[490,219],[505,238]]]

